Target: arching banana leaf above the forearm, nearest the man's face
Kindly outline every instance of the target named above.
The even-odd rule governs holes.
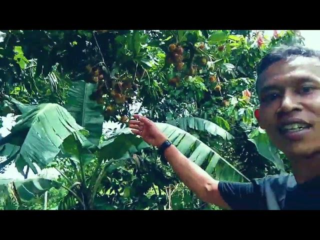
[[[199,131],[207,131],[212,135],[219,135],[223,139],[233,138],[233,136],[222,127],[211,121],[199,117],[182,117],[174,120],[169,120],[167,121],[167,123],[173,126],[178,126],[184,131],[188,131],[188,128],[191,128]]]

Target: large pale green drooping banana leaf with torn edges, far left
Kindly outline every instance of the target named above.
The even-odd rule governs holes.
[[[60,151],[63,140],[83,129],[66,109],[53,103],[39,104],[17,120],[11,133],[0,140],[0,155],[14,159],[22,174],[25,165],[37,173],[32,162],[44,168]]]

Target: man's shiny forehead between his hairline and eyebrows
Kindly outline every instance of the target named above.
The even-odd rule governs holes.
[[[294,56],[279,60],[264,70],[258,79],[258,91],[263,86],[282,80],[299,77],[318,78],[320,80],[320,60],[317,57]]]

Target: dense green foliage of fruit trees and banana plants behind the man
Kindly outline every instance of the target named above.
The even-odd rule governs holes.
[[[290,170],[253,111],[256,64],[273,46],[301,44],[292,30],[3,32],[0,115],[20,116],[0,139],[0,169],[14,162],[25,177],[36,166],[60,172],[32,181],[43,187],[28,183],[28,195],[26,183],[0,174],[4,209],[42,209],[44,201],[47,209],[216,209],[126,128],[137,112],[217,179]]]

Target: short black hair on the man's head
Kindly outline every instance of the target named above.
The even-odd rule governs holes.
[[[287,46],[280,45],[274,47],[269,53],[267,53],[257,66],[257,76],[266,70],[271,64],[282,59],[287,59],[290,56],[306,56],[306,57],[318,57],[320,59],[320,52],[307,48],[301,45]],[[256,80],[256,89],[259,77]]]

